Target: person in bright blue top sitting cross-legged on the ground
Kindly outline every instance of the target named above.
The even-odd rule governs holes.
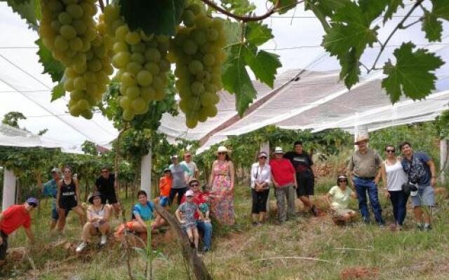
[[[154,221],[153,221],[154,220]],[[147,225],[156,230],[165,223],[165,220],[154,214],[154,202],[148,201],[145,190],[138,191],[138,203],[133,207],[133,221],[126,223],[126,228],[120,225],[116,231],[116,239],[120,239],[124,230],[134,232],[142,241],[147,241]]]

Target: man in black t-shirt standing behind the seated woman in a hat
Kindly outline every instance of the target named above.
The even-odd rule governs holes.
[[[109,168],[102,167],[101,176],[95,181],[95,186],[101,194],[102,204],[105,204],[106,202],[111,204],[112,207],[114,207],[114,215],[118,217],[120,205],[116,197],[117,184],[115,176],[109,172]]]

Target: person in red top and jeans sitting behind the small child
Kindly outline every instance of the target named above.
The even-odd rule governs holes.
[[[192,179],[189,181],[189,189],[194,192],[194,202],[196,205],[200,206],[201,204],[208,203],[208,195],[206,193],[201,192],[199,190],[199,181],[196,179]],[[182,196],[181,203],[185,202],[185,195]],[[201,209],[201,208],[200,208]],[[210,243],[212,242],[212,223],[210,220],[202,221],[199,220],[199,215],[195,213],[196,219],[196,228],[199,233],[202,235],[203,240],[203,251],[202,253],[206,253],[210,251]]]

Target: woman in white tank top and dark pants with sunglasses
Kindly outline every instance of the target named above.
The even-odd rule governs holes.
[[[403,183],[407,183],[407,174],[401,165],[401,158],[396,157],[394,146],[385,147],[386,160],[382,163],[380,172],[386,186],[386,195],[393,205],[393,215],[396,227],[401,230],[406,218],[407,195],[402,190]]]

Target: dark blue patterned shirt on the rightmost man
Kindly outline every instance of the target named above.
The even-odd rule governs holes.
[[[432,174],[430,172],[430,167],[427,165],[427,162],[431,160],[429,155],[424,152],[416,152],[413,153],[413,157],[410,160],[406,158],[402,159],[402,167],[406,174],[408,175],[408,179],[410,183],[417,183],[420,186],[429,186],[430,180],[432,178]],[[411,166],[411,170],[410,170]],[[409,174],[410,170],[410,174]]]

